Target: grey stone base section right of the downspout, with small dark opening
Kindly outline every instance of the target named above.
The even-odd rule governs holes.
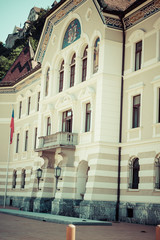
[[[153,203],[121,203],[120,221],[146,225],[160,223],[160,204]]]

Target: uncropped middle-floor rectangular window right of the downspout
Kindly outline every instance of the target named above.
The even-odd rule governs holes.
[[[133,128],[140,126],[140,107],[141,107],[140,102],[141,95],[133,97],[133,123],[132,123]]]

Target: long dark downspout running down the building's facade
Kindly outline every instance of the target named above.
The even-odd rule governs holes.
[[[125,63],[125,29],[123,16],[119,16],[122,23],[123,33],[123,45],[122,45],[122,70],[121,70],[121,99],[120,99],[120,124],[119,124],[119,144],[122,143],[122,113],[123,113],[123,76],[124,76],[124,63]],[[116,221],[119,221],[119,205],[120,205],[120,183],[121,183],[121,150],[122,147],[118,148],[118,183],[117,183],[117,203],[116,203]]]

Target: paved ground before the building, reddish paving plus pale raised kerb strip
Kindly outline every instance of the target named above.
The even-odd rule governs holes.
[[[66,240],[66,227],[70,223],[78,224],[76,240],[155,240],[155,226],[124,222],[99,225],[103,222],[2,208],[0,240]]]

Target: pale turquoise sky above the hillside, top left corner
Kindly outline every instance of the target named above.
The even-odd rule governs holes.
[[[54,0],[0,0],[0,42],[5,43],[15,26],[23,27],[33,7],[51,8]]]

